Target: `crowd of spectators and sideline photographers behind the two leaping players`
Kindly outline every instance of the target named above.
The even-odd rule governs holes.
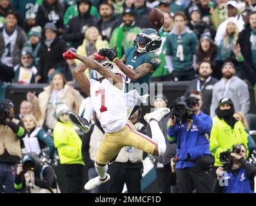
[[[255,0],[0,0],[0,86],[48,84],[38,96],[27,93],[19,114],[12,100],[0,103],[1,114],[9,115],[0,117],[0,192],[59,191],[58,161],[68,192],[83,191],[84,167],[89,179],[97,176],[95,154],[104,130],[95,113],[88,133],[68,119],[68,111],[83,116],[88,98],[72,86],[80,61],[64,60],[63,53],[70,49],[89,57],[115,48],[121,59],[137,34],[152,28],[152,8],[163,12],[164,24],[156,52],[161,64],[151,81],[190,81],[184,96],[198,100],[189,117],[166,115],[159,121],[166,152],[148,158],[160,192],[254,191],[249,89],[256,91]],[[86,76],[97,79],[94,70]],[[153,107],[167,107],[170,98],[157,94]],[[151,136],[141,116],[139,109],[130,121]],[[230,167],[220,160],[227,149]],[[141,192],[146,156],[124,147],[109,165],[113,178],[90,192],[122,192],[124,183],[128,192]],[[32,168],[36,187],[28,191],[32,178],[25,172]],[[223,175],[230,178],[221,187]]]

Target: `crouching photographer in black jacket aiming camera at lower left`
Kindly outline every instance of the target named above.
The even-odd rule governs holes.
[[[27,153],[21,158],[14,188],[26,193],[59,193],[54,168],[43,164],[36,153]]]

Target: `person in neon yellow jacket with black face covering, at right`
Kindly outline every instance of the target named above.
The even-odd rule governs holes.
[[[233,117],[235,109],[230,98],[224,97],[219,100],[219,106],[215,109],[213,126],[210,138],[210,151],[215,156],[215,167],[223,164],[220,155],[233,145],[244,144],[248,153],[248,138],[242,122]]]

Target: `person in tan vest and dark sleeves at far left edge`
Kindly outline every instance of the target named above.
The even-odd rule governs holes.
[[[0,193],[17,192],[14,178],[21,158],[20,140],[25,135],[23,123],[14,118],[14,103],[8,99],[0,102]]]

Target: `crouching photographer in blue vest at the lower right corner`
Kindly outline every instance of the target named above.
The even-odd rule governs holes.
[[[246,146],[237,144],[233,146],[233,153],[223,155],[224,160],[230,160],[230,164],[218,167],[216,174],[219,181],[214,192],[253,193],[256,167],[246,161],[246,153]]]

